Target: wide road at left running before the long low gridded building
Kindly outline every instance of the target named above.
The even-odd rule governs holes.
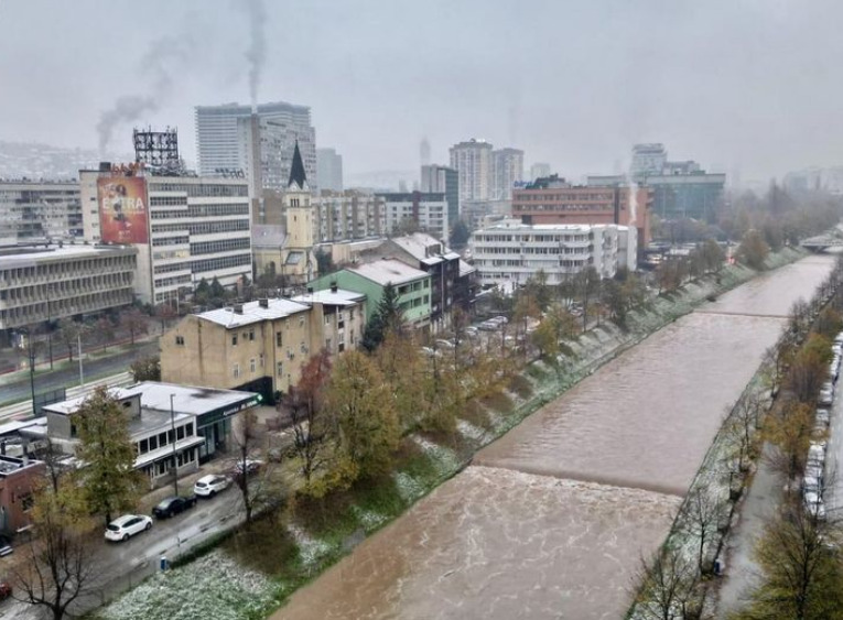
[[[158,355],[158,339],[152,342],[144,342],[129,351],[117,352],[114,356],[84,360],[83,371],[86,378],[115,374],[127,370],[129,365],[137,359],[155,355]],[[40,394],[50,390],[77,385],[78,383],[79,366],[78,362],[74,362],[52,372],[37,372],[35,374],[35,393]],[[24,373],[0,385],[0,405],[29,400],[31,396],[32,390],[29,374]]]

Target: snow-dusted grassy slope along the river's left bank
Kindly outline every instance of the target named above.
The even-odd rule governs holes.
[[[768,258],[776,268],[804,254],[786,249]],[[388,472],[322,498],[291,501],[268,512],[249,530],[234,533],[208,555],[156,575],[99,610],[101,619],[262,618],[366,536],[403,513],[471,463],[476,450],[558,398],[599,366],[653,331],[688,314],[706,298],[757,275],[742,265],[698,279],[650,300],[626,316],[626,329],[604,323],[566,342],[568,355],[552,368],[528,365],[495,394],[469,401],[454,433],[412,432],[402,437]],[[221,499],[219,501],[223,501]],[[219,570],[208,569],[208,557]],[[191,587],[183,584],[192,583]],[[182,584],[182,586],[180,586]],[[193,599],[190,605],[186,598]],[[250,600],[244,607],[244,599]],[[204,611],[206,610],[206,611]]]

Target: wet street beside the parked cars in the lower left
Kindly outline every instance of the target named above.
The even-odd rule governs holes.
[[[155,521],[149,532],[142,532],[125,543],[95,541],[97,573],[104,581],[97,591],[74,607],[74,616],[100,607],[116,595],[137,586],[160,570],[160,559],[173,559],[209,537],[234,527],[244,520],[239,490],[230,487],[213,499],[199,498],[195,508],[179,516]],[[21,550],[20,553],[25,553]],[[43,610],[8,600],[0,603],[0,618],[41,620]]]

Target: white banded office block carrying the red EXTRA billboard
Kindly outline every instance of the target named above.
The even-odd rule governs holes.
[[[202,279],[231,286],[252,276],[245,178],[153,176],[140,166],[79,171],[85,239],[138,250],[134,294],[176,302]]]

